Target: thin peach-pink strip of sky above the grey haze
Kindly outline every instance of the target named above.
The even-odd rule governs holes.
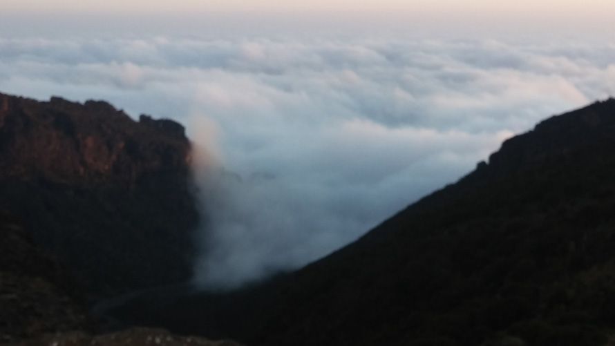
[[[583,15],[615,12],[612,0],[4,0],[3,11],[60,12],[299,12],[410,11],[507,14]]]

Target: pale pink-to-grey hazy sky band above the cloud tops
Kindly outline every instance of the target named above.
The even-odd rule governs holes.
[[[0,32],[213,38],[395,30],[416,38],[599,42],[611,39],[613,14],[614,0],[3,0]]]

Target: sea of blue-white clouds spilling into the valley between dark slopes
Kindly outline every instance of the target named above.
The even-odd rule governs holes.
[[[0,90],[187,124],[209,151],[196,278],[228,287],[319,258],[513,133],[614,95],[615,46],[0,39]]]

